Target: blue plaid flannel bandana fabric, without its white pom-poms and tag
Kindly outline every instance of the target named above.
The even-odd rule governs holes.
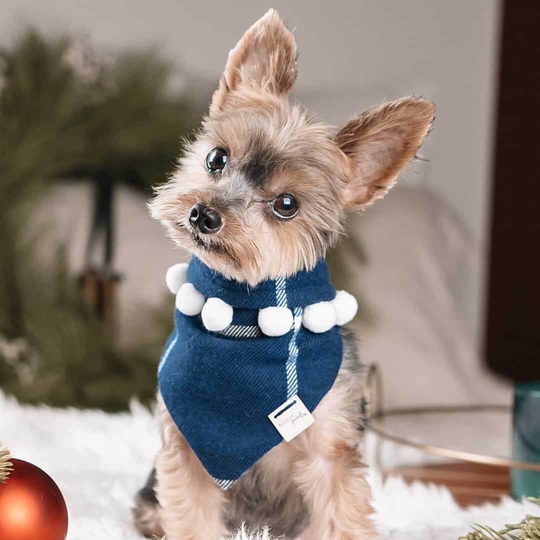
[[[175,309],[158,368],[159,390],[208,474],[227,489],[282,442],[268,419],[274,409],[298,394],[313,411],[334,384],[342,358],[338,327],[316,334],[301,320],[303,307],[332,300],[335,291],[324,260],[311,271],[249,287],[194,257],[187,279],[206,298],[233,306],[233,321],[222,332],[210,332],[200,315]],[[293,312],[287,334],[260,332],[258,311],[269,306]]]

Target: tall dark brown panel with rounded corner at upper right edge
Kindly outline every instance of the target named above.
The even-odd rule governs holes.
[[[540,380],[540,2],[504,2],[485,357]]]

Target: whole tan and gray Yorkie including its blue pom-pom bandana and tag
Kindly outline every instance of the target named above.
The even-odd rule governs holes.
[[[415,157],[435,107],[402,98],[334,134],[289,103],[295,79],[294,36],[270,10],[229,53],[150,204],[193,259],[168,279],[162,448],[134,510],[145,535],[218,540],[245,522],[287,538],[376,536],[363,369],[339,328],[354,301],[329,285],[324,258],[345,211],[383,197]]]

